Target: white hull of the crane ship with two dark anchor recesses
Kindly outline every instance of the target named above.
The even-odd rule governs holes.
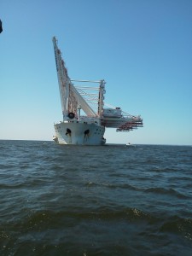
[[[55,143],[72,145],[103,145],[105,127],[96,123],[64,121],[55,124]]]

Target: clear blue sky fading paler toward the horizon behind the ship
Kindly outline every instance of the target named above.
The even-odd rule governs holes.
[[[0,19],[0,139],[52,139],[55,36],[71,79],[105,79],[105,102],[143,117],[108,143],[192,145],[191,0],[1,0]]]

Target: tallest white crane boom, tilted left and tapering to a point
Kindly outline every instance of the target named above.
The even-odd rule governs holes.
[[[68,115],[68,96],[69,96],[69,87],[71,81],[67,74],[67,68],[65,67],[65,62],[61,58],[61,51],[57,47],[57,40],[53,37],[54,44],[54,52],[55,52],[55,63],[56,63],[56,71],[57,78],[59,82],[60,88],[60,96],[61,96],[61,108],[63,114],[63,120],[67,119]]]

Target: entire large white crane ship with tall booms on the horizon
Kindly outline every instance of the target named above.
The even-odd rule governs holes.
[[[143,119],[104,103],[105,80],[70,79],[67,67],[53,37],[56,72],[61,96],[63,119],[54,124],[55,143],[103,145],[106,127],[132,131],[143,127]],[[107,107],[107,108],[106,108]]]

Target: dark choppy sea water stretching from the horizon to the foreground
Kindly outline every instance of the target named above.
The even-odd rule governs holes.
[[[0,255],[192,255],[192,147],[0,141]]]

